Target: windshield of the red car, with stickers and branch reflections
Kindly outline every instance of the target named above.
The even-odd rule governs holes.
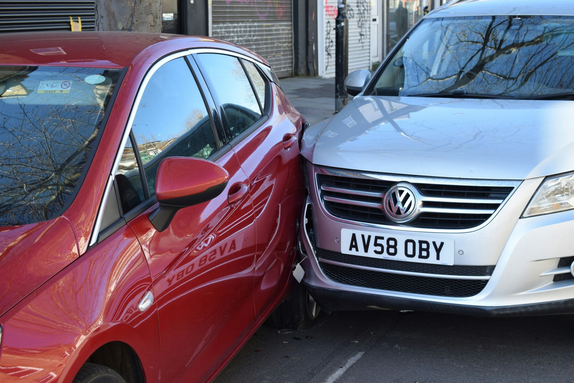
[[[50,219],[65,207],[120,74],[0,66],[0,226]]]

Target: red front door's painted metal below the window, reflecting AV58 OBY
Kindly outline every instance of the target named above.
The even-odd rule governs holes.
[[[255,316],[253,204],[249,193],[227,202],[247,177],[232,150],[215,162],[230,175],[218,197],[181,209],[161,233],[148,218],[155,207],[129,223],[153,277],[164,382],[200,381]],[[206,362],[196,363],[200,354]]]

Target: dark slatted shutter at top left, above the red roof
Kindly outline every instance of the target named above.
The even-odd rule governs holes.
[[[0,32],[70,30],[70,16],[82,30],[94,30],[94,0],[0,0]]]

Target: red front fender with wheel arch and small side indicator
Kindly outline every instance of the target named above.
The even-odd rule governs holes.
[[[0,381],[71,382],[99,346],[122,341],[141,358],[148,382],[157,382],[156,310],[137,309],[151,284],[137,238],[124,226],[0,317]]]

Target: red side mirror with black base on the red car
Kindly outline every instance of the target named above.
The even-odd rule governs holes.
[[[181,208],[214,199],[225,189],[229,173],[200,158],[168,157],[157,168],[156,197],[160,207],[149,215],[157,231],[164,231]]]

